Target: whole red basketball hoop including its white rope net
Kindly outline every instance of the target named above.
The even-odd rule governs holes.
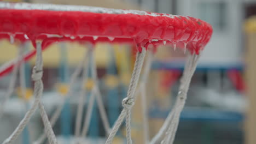
[[[148,49],[149,45],[158,47],[159,45],[172,45],[174,49],[182,47],[184,51],[190,51],[185,64],[184,73],[179,87],[178,97],[173,110],[159,133],[150,141],[148,134],[144,134],[145,143],[173,143],[178,128],[179,116],[184,107],[187,98],[187,92],[191,77],[194,74],[196,63],[200,57],[200,52],[208,43],[212,35],[211,26],[199,19],[189,16],[177,16],[170,14],[148,13],[138,10],[119,10],[104,9],[96,7],[82,7],[71,5],[49,5],[49,4],[27,4],[27,3],[4,3],[0,2],[0,38],[9,39],[10,43],[16,40],[24,43],[31,41],[35,50],[22,55],[21,58],[14,59],[0,67],[0,77],[10,73],[13,69],[15,74],[21,60],[27,61],[36,55],[36,65],[33,68],[32,79],[34,81],[34,103],[31,109],[27,111],[18,127],[3,143],[12,143],[29,122],[31,116],[39,107],[40,115],[43,119],[45,134],[50,143],[57,143],[52,125],[59,117],[62,107],[56,110],[53,118],[49,121],[44,110],[41,97],[43,93],[43,58],[42,51],[47,49],[50,44],[60,41],[78,41],[79,43],[90,43],[88,52],[84,59],[78,65],[72,75],[67,97],[71,97],[73,92],[72,85],[77,80],[80,71],[84,70],[83,80],[87,80],[88,61],[91,64],[91,73],[94,86],[92,96],[88,103],[84,127],[80,131],[81,116],[77,116],[76,132],[77,137],[85,136],[91,115],[91,109],[94,100],[100,110],[104,129],[109,134],[106,144],[112,143],[121,123],[126,119],[126,137],[127,143],[132,143],[131,139],[131,110],[135,104],[135,92],[139,81],[139,75],[142,70],[146,51],[150,53],[147,63],[144,67],[142,81],[139,83],[139,92],[142,93],[142,110],[146,116],[146,105],[143,104],[146,99],[146,82],[153,61],[154,50]],[[107,43],[127,43],[137,46],[136,62],[133,69],[127,97],[123,99],[124,109],[121,111],[117,121],[110,128],[106,111],[104,110],[101,93],[99,91],[96,65],[93,57],[94,44],[98,42]],[[89,59],[89,60],[88,60]],[[88,61],[86,61],[88,60]],[[13,87],[13,86],[10,86]],[[83,94],[82,94],[83,95]],[[82,97],[80,97],[82,99]],[[79,106],[79,112],[82,113],[83,104]],[[148,131],[147,118],[143,118],[144,129]],[[44,136],[37,142],[44,140]]]

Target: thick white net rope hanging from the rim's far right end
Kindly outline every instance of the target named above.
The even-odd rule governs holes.
[[[185,105],[190,81],[196,69],[196,64],[199,57],[199,55],[195,54],[188,56],[174,107],[172,111],[168,114],[159,132],[153,137],[152,141],[150,142],[151,144],[158,143],[161,140],[162,136],[164,136],[164,139],[161,140],[161,144],[173,143],[178,128],[179,116],[181,115],[181,112]]]

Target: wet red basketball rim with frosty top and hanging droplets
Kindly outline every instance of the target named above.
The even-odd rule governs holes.
[[[0,2],[0,14],[0,38],[43,40],[43,47],[62,40],[108,41],[135,43],[140,51],[167,43],[199,54],[212,35],[211,25],[200,19],[138,10]]]

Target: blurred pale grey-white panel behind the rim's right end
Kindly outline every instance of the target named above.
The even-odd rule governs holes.
[[[240,0],[179,0],[177,14],[197,17],[213,26],[201,63],[226,65],[242,59],[242,2]]]

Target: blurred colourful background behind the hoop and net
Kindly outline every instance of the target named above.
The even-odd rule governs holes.
[[[22,2],[21,0],[9,2]],[[226,144],[256,141],[256,1],[255,0],[30,0],[31,3],[53,3],[90,5],[105,8],[137,9],[157,13],[198,17],[213,27],[210,43],[202,52],[200,62],[191,81],[187,103],[181,115],[176,144]],[[17,47],[9,40],[0,41],[0,63],[17,57]],[[44,51],[44,95],[43,101],[51,117],[61,97],[68,88],[70,75],[82,59],[86,46],[78,43],[51,45]],[[110,47],[110,48],[109,48]],[[95,50],[100,89],[110,124],[118,117],[126,97],[132,66],[135,60],[135,47],[130,45],[97,44]],[[26,45],[26,51],[33,49]],[[161,46],[155,55],[147,86],[149,134],[154,136],[176,98],[184,67],[183,50],[173,50],[172,46]],[[27,99],[20,98],[19,82],[5,105],[0,123],[0,141],[3,141],[26,112],[31,103],[30,78],[34,59],[25,64]],[[0,92],[7,91],[10,75],[0,79]],[[79,83],[77,82],[79,87]],[[91,83],[85,83],[91,89]],[[69,139],[74,135],[77,93],[66,101],[61,117],[54,126],[59,139]],[[0,97],[2,98],[2,97]],[[142,114],[138,98],[132,112],[132,138],[135,143],[143,143]],[[86,109],[86,105],[84,107]],[[42,133],[43,124],[37,113],[28,129],[16,143],[30,143]],[[31,133],[32,131],[32,133]],[[95,105],[88,137],[94,143],[104,139],[100,115]],[[118,133],[114,143],[123,143],[125,129]],[[66,140],[67,142],[67,140]]]

